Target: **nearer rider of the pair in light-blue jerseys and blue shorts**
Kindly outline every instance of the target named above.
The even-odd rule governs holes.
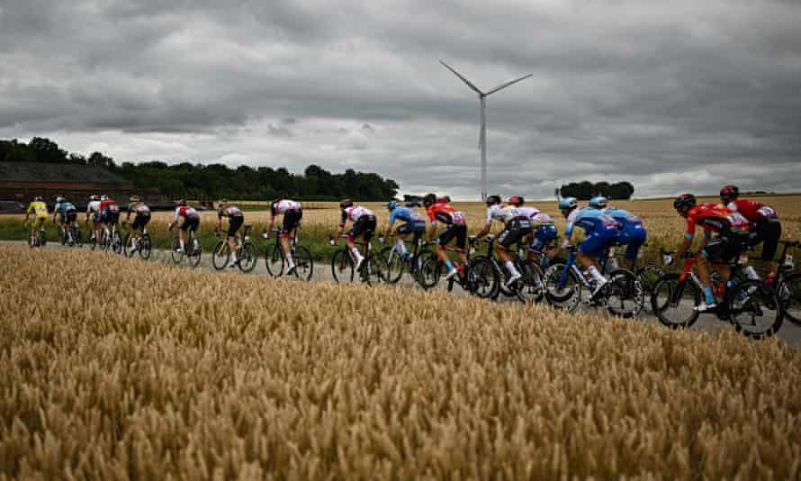
[[[575,227],[578,226],[584,230],[584,241],[581,241],[579,245],[576,259],[583,268],[590,271],[590,276],[596,280],[595,290],[590,295],[590,297],[594,297],[600,288],[608,283],[608,279],[600,273],[596,259],[604,255],[612,242],[617,241],[617,221],[598,209],[579,208],[575,197],[564,197],[559,201],[559,209],[567,219],[567,225],[564,228],[564,242],[562,247],[556,250],[556,254],[572,245],[571,237]]]

